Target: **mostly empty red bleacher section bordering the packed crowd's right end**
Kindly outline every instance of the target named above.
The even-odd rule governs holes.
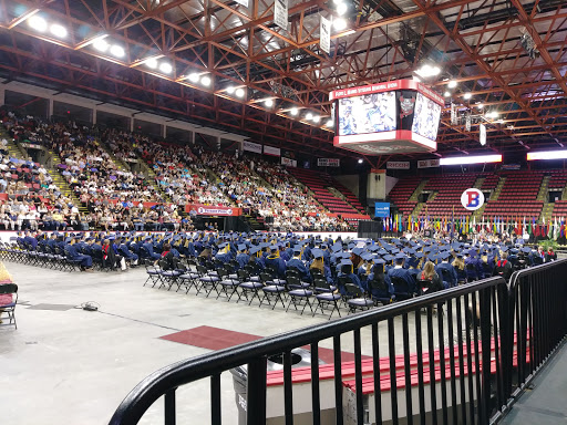
[[[349,203],[332,195],[327,187],[336,187],[337,190],[344,194],[348,190],[344,186],[340,189],[337,182],[333,182],[326,173],[319,173],[311,169],[289,167],[289,173],[295,176],[299,182],[306,185],[313,194],[319,204],[324,206],[331,212],[336,214],[361,214]],[[352,195],[352,193],[350,193]],[[354,195],[352,195],[354,197]],[[360,204],[359,204],[360,205]],[[360,206],[362,208],[362,206]]]

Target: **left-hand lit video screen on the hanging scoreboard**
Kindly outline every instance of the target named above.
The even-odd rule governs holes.
[[[395,92],[339,99],[339,136],[396,129]]]

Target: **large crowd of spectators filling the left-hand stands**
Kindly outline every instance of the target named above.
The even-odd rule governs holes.
[[[327,210],[308,195],[307,188],[278,164],[239,157],[238,154],[206,152],[199,146],[192,151],[186,145],[158,143],[146,135],[112,128],[99,132],[99,128],[74,122],[45,123],[31,116],[19,118],[6,111],[0,112],[0,117],[17,142],[40,144],[59,155],[61,164],[56,167],[89,209],[87,214],[73,215],[71,209],[76,209],[76,206],[70,199],[59,201],[62,194],[43,167],[39,167],[37,173],[20,173],[22,167],[13,163],[16,159],[0,156],[0,190],[9,195],[25,195],[28,186],[32,186],[48,204],[59,201],[69,205],[68,211],[60,211],[63,220],[56,222],[75,228],[87,224],[105,230],[134,229],[136,224],[138,229],[190,228],[190,218],[183,222],[176,206],[204,204],[236,205],[246,214],[261,217],[269,230],[349,229],[346,221],[328,216]],[[138,172],[118,169],[94,135],[122,162],[135,164],[140,158],[146,162],[155,174],[155,186],[150,176],[141,172],[141,166],[133,167]],[[6,143],[0,141],[0,155],[4,148]],[[218,182],[208,176],[208,169],[218,177]],[[14,173],[17,178],[13,178]],[[173,206],[156,211],[143,208],[142,203]],[[16,227],[18,222],[14,221]],[[51,222],[49,216],[48,222]]]

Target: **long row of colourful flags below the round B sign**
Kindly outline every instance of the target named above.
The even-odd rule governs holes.
[[[404,218],[401,214],[390,215],[390,217],[383,220],[384,231],[422,231],[422,230],[442,230],[453,234],[472,234],[474,231],[485,230],[489,234],[512,234],[516,235],[529,235],[529,236],[542,236],[548,237],[549,239],[557,239],[565,237],[566,230],[566,218],[554,217],[551,220],[538,221],[535,217],[483,217],[481,220],[476,220],[476,217],[461,216],[461,217],[414,217],[409,216]]]

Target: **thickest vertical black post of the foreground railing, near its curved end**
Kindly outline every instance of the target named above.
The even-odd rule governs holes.
[[[266,424],[266,369],[268,359],[260,356],[248,363],[248,402],[246,424]]]

